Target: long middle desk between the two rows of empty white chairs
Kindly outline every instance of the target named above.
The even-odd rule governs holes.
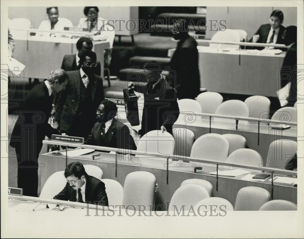
[[[119,118],[130,128],[130,123],[126,120],[126,113],[122,107],[118,108]],[[218,134],[239,134],[246,138],[248,148],[256,150],[261,154],[264,163],[266,163],[268,148],[271,142],[279,139],[289,139],[297,141],[297,127],[291,126],[289,129],[273,129],[265,123],[260,124],[258,129],[257,122],[239,121],[236,129],[235,120],[210,120],[209,117],[193,116],[192,112],[180,114],[178,120],[174,123],[173,128],[186,128],[194,133],[194,140],[206,133]],[[138,127],[138,126],[137,126]],[[134,127],[136,128],[136,127]],[[136,139],[134,139],[136,140]]]

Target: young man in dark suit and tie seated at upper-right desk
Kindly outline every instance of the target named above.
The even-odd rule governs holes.
[[[270,23],[261,25],[249,42],[285,44],[283,23],[284,15],[280,10],[274,10],[270,15]],[[254,47],[262,50],[264,47]],[[271,47],[265,47],[271,49]]]

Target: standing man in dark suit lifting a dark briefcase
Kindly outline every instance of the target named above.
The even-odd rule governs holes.
[[[172,132],[172,126],[179,116],[176,91],[168,85],[162,74],[161,63],[150,61],[143,66],[145,70],[145,86],[128,83],[128,87],[144,95],[143,116],[141,120],[142,137],[151,130]]]

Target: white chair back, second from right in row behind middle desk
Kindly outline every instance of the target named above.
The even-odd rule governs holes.
[[[265,117],[269,117],[270,100],[265,96],[250,96],[245,99],[245,104],[249,109],[249,117],[260,118],[261,120],[267,120]],[[270,118],[269,118],[270,120]],[[257,122],[252,122],[257,124]]]

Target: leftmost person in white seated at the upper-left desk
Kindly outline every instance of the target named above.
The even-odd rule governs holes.
[[[70,20],[66,18],[60,18],[58,7],[47,8],[47,15],[49,20],[42,21],[39,26],[39,30],[45,30],[50,32],[37,32],[38,36],[57,36],[57,37],[71,37],[71,34],[55,33],[56,31],[63,31],[64,27],[73,27]],[[53,33],[54,31],[54,33]]]

